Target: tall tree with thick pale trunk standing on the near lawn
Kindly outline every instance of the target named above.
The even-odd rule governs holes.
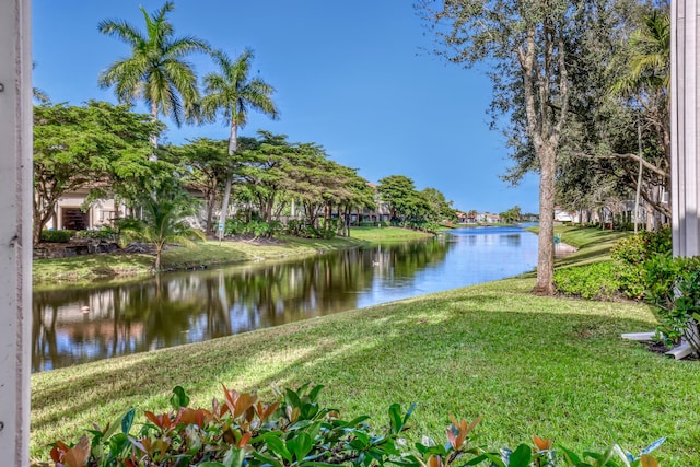
[[[420,0],[450,61],[492,67],[492,110],[510,116],[515,157],[539,172],[540,235],[535,291],[553,294],[557,153],[569,115],[568,40],[575,5],[563,0]]]

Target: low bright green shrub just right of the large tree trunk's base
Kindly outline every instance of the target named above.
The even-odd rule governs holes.
[[[612,262],[600,261],[555,271],[555,287],[565,295],[611,300],[618,293],[620,283]]]

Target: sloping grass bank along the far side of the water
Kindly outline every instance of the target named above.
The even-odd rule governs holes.
[[[163,269],[184,270],[226,264],[281,259],[292,256],[316,255],[337,249],[357,248],[373,242],[405,242],[430,236],[397,227],[358,227],[350,237],[330,240],[284,236],[280,241],[206,241],[191,248],[174,246],[163,253]],[[94,280],[133,279],[153,273],[153,255],[100,254],[33,261],[33,282],[37,288],[57,282],[80,284]]]

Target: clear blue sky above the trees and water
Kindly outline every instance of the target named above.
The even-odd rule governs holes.
[[[34,85],[52,102],[116,102],[97,75],[129,54],[97,32],[104,19],[142,30],[163,1],[34,0]],[[322,144],[335,161],[376,183],[406,175],[420,190],[441,190],[454,207],[537,212],[537,178],[509,187],[499,179],[510,164],[504,138],[489,130],[491,85],[483,69],[466,70],[427,50],[433,37],[409,0],[176,0],[175,35],[196,35],[232,58],[255,51],[254,72],[277,90],[280,119],[252,113],[241,135],[258,129],[292,142]],[[214,71],[194,56],[201,77]],[[147,112],[144,107],[136,108]],[[222,124],[183,126],[170,119],[166,139],[228,139]]]

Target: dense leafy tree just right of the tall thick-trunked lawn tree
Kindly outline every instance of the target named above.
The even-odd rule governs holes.
[[[630,199],[637,185],[639,112],[610,89],[627,68],[628,38],[643,10],[635,0],[583,2],[574,16],[579,32],[568,38],[571,112],[557,155],[556,199],[588,222],[593,212]],[[658,160],[657,145],[648,142],[645,164]],[[657,177],[645,171],[650,194]]]

